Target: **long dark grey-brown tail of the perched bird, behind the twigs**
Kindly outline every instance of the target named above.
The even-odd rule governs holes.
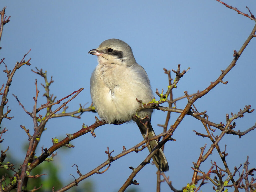
[[[150,139],[154,136],[156,136],[153,128],[152,128],[152,125],[150,123],[150,120],[149,119],[144,119],[142,120],[143,123],[145,122],[148,122],[147,126],[148,126],[148,136],[147,138]],[[146,128],[144,127],[144,125],[141,123],[141,122],[138,122],[136,121],[138,127],[140,128],[140,131],[141,131],[141,134],[143,136],[143,138],[145,139],[146,138],[146,135],[147,135],[147,130]],[[147,146],[148,148],[148,151],[151,153],[152,149],[158,144],[158,142],[156,140],[152,140],[149,142],[149,145]],[[164,152],[163,150],[160,148],[158,150],[158,152],[153,156],[153,161],[156,165],[156,167],[162,171],[162,172],[166,172],[169,170],[169,166],[168,166],[168,162],[165,158],[165,155],[164,155]]]

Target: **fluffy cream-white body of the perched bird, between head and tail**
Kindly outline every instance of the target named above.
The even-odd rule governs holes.
[[[140,106],[136,98],[150,102],[153,98],[150,85],[142,81],[140,73],[131,67],[98,65],[91,77],[91,97],[101,120],[108,123],[129,121]],[[147,110],[140,114],[150,115],[151,112]]]

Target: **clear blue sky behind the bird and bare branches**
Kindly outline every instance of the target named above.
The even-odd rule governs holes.
[[[254,0],[232,1],[225,3],[248,13],[246,6],[256,15]],[[215,0],[207,1],[1,1],[0,7],[7,6],[6,14],[11,16],[10,22],[4,26],[0,46],[0,57],[5,58],[8,69],[13,69],[16,61],[20,61],[31,48],[26,59],[31,58],[31,66],[20,68],[14,78],[8,94],[10,116],[13,120],[4,120],[2,127],[7,127],[1,150],[10,146],[10,152],[23,150],[27,135],[20,128],[24,125],[33,129],[32,119],[18,105],[12,93],[17,95],[28,111],[32,111],[35,96],[35,79],[38,84],[43,79],[30,70],[35,67],[47,70],[48,78],[53,76],[54,83],[51,93],[61,99],[75,90],[84,90],[68,104],[67,111],[78,109],[91,102],[90,76],[97,65],[97,58],[87,55],[91,49],[110,38],[118,38],[127,42],[133,49],[138,64],[143,66],[151,81],[153,92],[156,88],[166,90],[168,79],[163,68],[191,69],[179,81],[174,97],[204,90],[210,81],[215,81],[221,69],[226,69],[233,57],[233,50],[240,49],[253,29],[254,22],[247,17],[238,15]],[[219,84],[203,98],[196,101],[199,111],[207,110],[209,120],[215,123],[226,122],[226,114],[237,113],[245,105],[256,107],[255,103],[255,44],[253,39],[237,65],[224,78],[227,85]],[[26,60],[25,59],[25,60]],[[0,66],[5,70],[4,65]],[[0,73],[1,74],[1,73]],[[174,77],[174,73],[172,73]],[[2,72],[0,82],[6,83],[6,75]],[[39,86],[38,103],[44,104],[42,97],[44,89]],[[156,95],[155,95],[156,96]],[[89,106],[89,104],[86,105]],[[176,103],[177,108],[183,109],[186,100]],[[81,129],[82,123],[94,123],[95,113],[83,113],[81,119],[63,117],[51,119],[47,123],[47,131],[41,137],[39,146],[49,148],[51,138],[64,138],[66,133],[74,133]],[[179,114],[171,114],[169,125],[173,124]],[[152,126],[156,133],[161,133],[157,124],[163,124],[166,113],[155,111],[152,116]],[[236,130],[244,131],[253,126],[256,112],[245,114],[237,119]],[[202,124],[193,117],[185,117],[179,125],[173,138],[176,142],[168,142],[165,155],[170,171],[166,173],[174,187],[181,189],[191,182],[193,171],[192,162],[196,162],[200,147],[211,142],[207,138],[196,136],[192,130],[204,132]],[[18,135],[13,140],[13,135]],[[76,174],[71,168],[77,164],[81,173],[85,174],[94,169],[107,158],[106,147],[115,150],[113,155],[123,149],[133,147],[142,136],[133,123],[124,125],[104,125],[95,130],[97,137],[90,134],[81,136],[71,142],[75,148],[59,150],[55,157],[57,166],[61,169],[60,177],[64,184],[72,179],[69,174]],[[219,135],[220,132],[215,132]],[[250,168],[255,167],[255,131],[238,139],[238,136],[226,135],[219,143],[223,151],[227,144],[227,162],[230,169],[246,161],[247,155],[251,162]],[[40,147],[36,155],[41,153]],[[239,153],[239,156],[237,154]],[[131,153],[111,164],[110,169],[102,175],[93,175],[89,179],[95,183],[96,191],[117,191],[130,175],[129,166],[136,167],[146,155],[147,150]],[[8,155],[8,154],[7,154]],[[20,164],[24,154],[17,152]],[[205,161],[200,170],[207,172],[211,167],[210,161],[216,161],[219,166],[221,159],[215,150]],[[240,170],[242,172],[242,169]],[[156,168],[145,166],[135,179],[140,183],[139,191],[155,191]],[[211,189],[212,184],[206,184],[202,190]],[[169,190],[166,183],[161,185],[162,191]]]

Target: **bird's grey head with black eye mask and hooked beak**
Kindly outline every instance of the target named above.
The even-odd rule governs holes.
[[[103,41],[97,49],[92,49],[88,54],[97,55],[99,64],[107,62],[131,66],[136,63],[131,47],[120,39]]]

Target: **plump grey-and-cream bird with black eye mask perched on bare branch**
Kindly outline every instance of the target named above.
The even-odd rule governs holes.
[[[154,137],[150,123],[153,109],[140,110],[140,103],[136,100],[143,103],[152,101],[150,80],[144,68],[136,63],[131,47],[120,39],[108,39],[88,54],[98,56],[98,65],[90,79],[90,93],[100,119],[109,124],[134,121],[144,139],[146,136],[148,139]],[[143,125],[146,122],[148,135]],[[150,141],[147,146],[149,152],[157,144],[156,140]],[[161,172],[169,170],[161,148],[153,156],[153,161]]]

